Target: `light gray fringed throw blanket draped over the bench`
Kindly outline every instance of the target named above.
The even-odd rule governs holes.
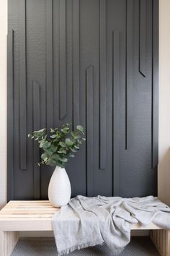
[[[130,242],[130,227],[155,223],[170,229],[170,208],[157,197],[77,196],[55,213],[53,231],[58,255],[106,243],[118,255]]]

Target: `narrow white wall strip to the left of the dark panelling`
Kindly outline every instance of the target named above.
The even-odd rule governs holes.
[[[6,33],[7,0],[0,0],[0,207],[6,202]]]

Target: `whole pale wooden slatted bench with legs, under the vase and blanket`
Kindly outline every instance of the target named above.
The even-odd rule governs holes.
[[[10,201],[0,211],[0,255],[9,256],[19,239],[19,231],[53,231],[52,216],[59,210],[49,201]],[[170,231],[153,223],[133,225],[132,230],[149,229],[161,256],[170,256]]]

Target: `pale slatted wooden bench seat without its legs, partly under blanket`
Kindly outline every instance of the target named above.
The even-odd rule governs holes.
[[[9,201],[0,211],[0,230],[3,231],[52,231],[53,214],[60,210],[48,200]],[[148,226],[135,224],[133,229],[160,229],[150,223]]]

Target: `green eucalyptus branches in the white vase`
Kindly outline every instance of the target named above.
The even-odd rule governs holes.
[[[47,129],[34,131],[28,135],[32,140],[37,140],[42,149],[41,162],[48,166],[60,166],[65,168],[68,158],[73,158],[74,153],[79,150],[80,145],[86,138],[84,137],[84,128],[81,125],[76,126],[76,131],[71,131],[69,124],[63,124],[61,129],[50,128],[50,135]]]

